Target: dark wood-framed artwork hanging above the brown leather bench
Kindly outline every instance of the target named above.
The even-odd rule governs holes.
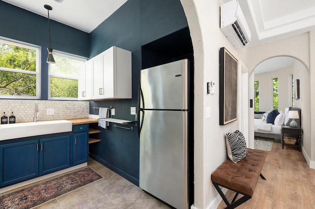
[[[237,120],[238,61],[224,47],[220,49],[220,125]]]

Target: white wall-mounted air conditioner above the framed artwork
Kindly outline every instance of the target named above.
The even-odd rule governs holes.
[[[251,31],[237,0],[221,5],[221,30],[236,49],[250,43]]]

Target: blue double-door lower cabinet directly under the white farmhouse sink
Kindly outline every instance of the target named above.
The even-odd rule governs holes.
[[[71,132],[1,141],[0,188],[70,167]]]

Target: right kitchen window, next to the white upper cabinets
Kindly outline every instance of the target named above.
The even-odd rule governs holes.
[[[86,60],[58,52],[54,58],[56,64],[49,65],[49,99],[78,98],[78,69]]]

